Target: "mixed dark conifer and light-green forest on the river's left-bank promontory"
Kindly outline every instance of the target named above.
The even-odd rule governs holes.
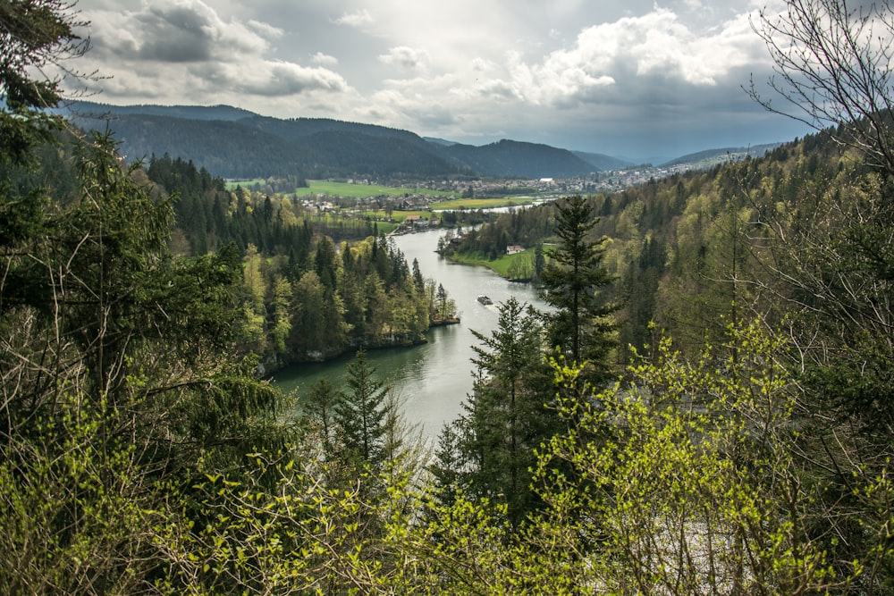
[[[375,222],[314,214],[294,196],[231,192],[168,155],[145,173],[161,197],[175,197],[173,247],[205,255],[232,244],[243,256],[244,347],[274,367],[418,343],[431,325],[456,321],[452,299]]]

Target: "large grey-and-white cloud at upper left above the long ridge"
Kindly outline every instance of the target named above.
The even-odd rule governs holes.
[[[220,103],[350,90],[326,68],[338,63],[333,56],[317,53],[315,66],[274,59],[271,42],[283,29],[254,19],[224,21],[201,0],[158,0],[86,16],[94,43],[87,59],[98,58],[100,72],[111,77],[99,81],[106,96]]]

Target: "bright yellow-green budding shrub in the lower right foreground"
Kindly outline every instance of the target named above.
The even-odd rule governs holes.
[[[724,348],[690,364],[663,340],[630,384],[584,406],[562,399],[578,425],[544,449],[536,477],[546,515],[575,521],[544,519],[544,540],[584,558],[601,592],[818,593],[860,572],[833,566],[835,537],[813,525],[831,512],[815,509],[791,450],[779,344],[751,326],[730,329]],[[578,371],[557,363],[556,374],[573,386]]]

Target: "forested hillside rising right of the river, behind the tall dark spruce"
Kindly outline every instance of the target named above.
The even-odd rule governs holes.
[[[603,292],[622,306],[616,319],[622,345],[642,349],[652,343],[654,323],[678,348],[697,351],[704,340],[719,340],[730,320],[779,310],[778,297],[758,290],[778,274],[767,263],[780,258],[772,233],[793,217],[780,201],[805,193],[814,201],[817,194],[841,195],[864,175],[858,155],[832,132],[777,147],[761,159],[586,197],[597,219],[588,238],[603,251],[613,280]],[[536,282],[555,242],[555,218],[553,204],[502,214],[443,243],[441,252],[496,259],[510,245],[527,247],[516,270]],[[627,357],[617,356],[620,363]]]

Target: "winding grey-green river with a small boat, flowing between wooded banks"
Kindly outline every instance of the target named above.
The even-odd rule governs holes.
[[[434,439],[444,423],[462,412],[462,402],[472,390],[475,365],[472,346],[478,341],[472,330],[490,335],[496,328],[497,305],[514,296],[520,302],[543,308],[544,302],[527,283],[511,283],[485,267],[448,262],[434,252],[443,230],[423,231],[395,237],[398,248],[409,264],[416,258],[426,277],[441,283],[456,300],[461,322],[436,327],[426,336],[428,343],[412,348],[383,348],[367,352],[367,361],[375,366],[376,376],[389,382],[403,403],[403,414],[409,424],[419,424],[426,439]],[[477,297],[485,294],[493,305],[484,306]],[[353,355],[325,363],[290,366],[274,376],[274,382],[299,396],[321,377],[344,387],[345,367]]]

